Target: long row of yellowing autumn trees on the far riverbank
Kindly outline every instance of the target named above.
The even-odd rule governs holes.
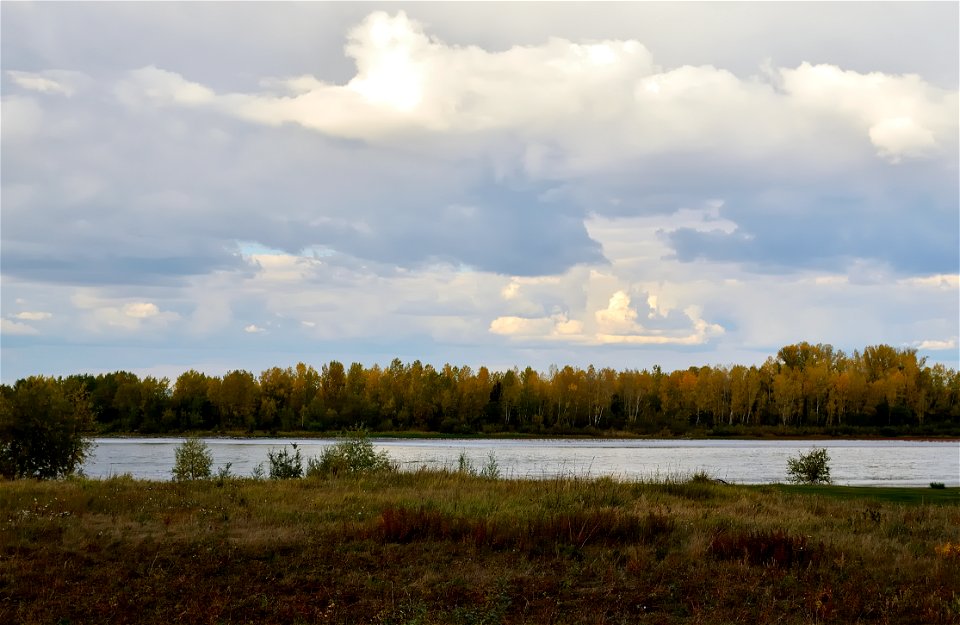
[[[889,345],[845,354],[781,348],[760,366],[665,372],[552,366],[490,371],[419,360],[319,370],[298,363],[254,375],[190,370],[33,376],[0,387],[0,412],[55,406],[99,434],[338,432],[454,435],[741,436],[960,433],[960,374]]]

